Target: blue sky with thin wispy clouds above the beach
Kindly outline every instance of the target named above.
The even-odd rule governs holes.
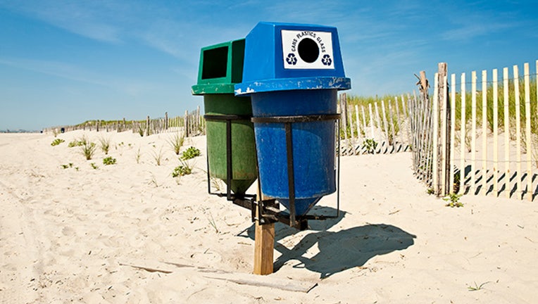
[[[0,0],[0,130],[180,115],[201,47],[259,21],[336,26],[349,94],[538,59],[535,1]],[[532,69],[534,71],[534,69]]]

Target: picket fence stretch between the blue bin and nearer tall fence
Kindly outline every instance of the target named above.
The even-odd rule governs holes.
[[[346,94],[340,94],[340,155],[408,151],[411,101],[411,96],[401,95],[359,106],[349,105]]]

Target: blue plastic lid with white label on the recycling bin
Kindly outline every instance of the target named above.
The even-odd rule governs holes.
[[[290,89],[350,89],[336,27],[261,22],[245,38],[236,95]]]

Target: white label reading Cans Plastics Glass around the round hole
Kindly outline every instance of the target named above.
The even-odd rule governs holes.
[[[280,33],[285,69],[334,70],[331,32],[282,30]]]

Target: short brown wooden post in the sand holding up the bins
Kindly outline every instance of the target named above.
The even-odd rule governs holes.
[[[258,197],[263,198],[260,183],[257,187]],[[256,206],[256,214],[258,206]],[[273,253],[275,251],[275,224],[260,224],[256,220],[254,231],[254,274],[272,274],[273,273]]]

